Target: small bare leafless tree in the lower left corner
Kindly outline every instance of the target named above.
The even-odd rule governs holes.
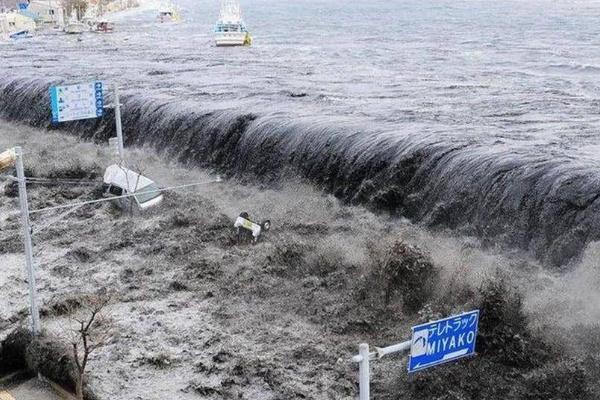
[[[77,399],[83,400],[83,384],[90,355],[108,344],[113,335],[111,319],[106,315],[109,296],[86,298],[81,309],[71,316],[70,345],[77,367],[75,391]]]

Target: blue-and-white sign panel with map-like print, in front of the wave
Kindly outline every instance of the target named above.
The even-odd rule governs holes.
[[[99,118],[104,115],[104,93],[100,81],[50,88],[52,123]]]

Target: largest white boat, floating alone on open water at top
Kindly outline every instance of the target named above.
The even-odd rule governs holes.
[[[250,46],[252,37],[246,29],[238,0],[221,0],[219,20],[215,24],[217,46]]]

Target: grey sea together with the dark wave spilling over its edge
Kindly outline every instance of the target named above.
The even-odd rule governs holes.
[[[238,157],[291,164],[347,201],[550,264],[600,238],[600,3],[242,1],[247,48],[213,45],[217,1],[177,4],[179,24],[147,2],[114,16],[113,34],[0,44],[0,87],[21,85],[0,92],[4,116],[39,114],[6,111],[32,86],[119,82],[135,142],[183,161],[210,164],[197,158],[215,149],[175,135],[230,137],[243,117]]]

